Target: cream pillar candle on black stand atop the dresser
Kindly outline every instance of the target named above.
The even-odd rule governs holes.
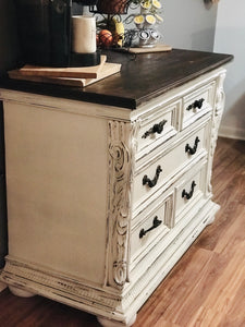
[[[76,53],[96,51],[96,21],[93,16],[72,17],[72,50]]]

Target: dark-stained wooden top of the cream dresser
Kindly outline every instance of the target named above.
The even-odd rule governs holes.
[[[135,109],[233,59],[231,55],[180,49],[137,56],[115,51],[106,55],[108,62],[122,63],[121,72],[83,89],[9,78],[2,78],[0,87]]]

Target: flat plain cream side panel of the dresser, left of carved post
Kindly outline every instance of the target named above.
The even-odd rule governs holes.
[[[9,253],[102,283],[107,122],[4,104]]]

